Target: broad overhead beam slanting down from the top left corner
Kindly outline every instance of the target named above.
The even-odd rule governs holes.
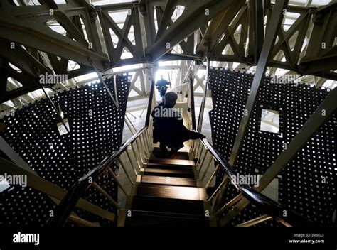
[[[64,7],[54,9],[53,15],[50,15],[50,10],[44,5],[38,8],[35,8],[37,6],[18,7],[4,1],[0,6],[0,38],[11,40],[16,45],[27,45],[46,53],[80,62],[88,67],[93,64],[100,70],[107,69],[109,67],[107,56],[95,52],[95,46],[92,47],[93,49],[86,46],[87,42],[81,33],[73,24],[70,25],[69,16],[82,15],[87,10],[84,7],[81,9],[67,6],[68,9]],[[48,28],[46,21],[54,19],[63,25],[68,24],[63,28],[73,33],[73,36],[77,40],[80,39],[80,42]]]

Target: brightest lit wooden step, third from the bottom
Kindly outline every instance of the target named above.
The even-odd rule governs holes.
[[[137,187],[137,196],[158,197],[181,200],[205,200],[204,188],[153,185],[141,183]]]

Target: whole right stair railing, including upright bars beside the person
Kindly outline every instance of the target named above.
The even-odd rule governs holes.
[[[209,61],[207,60],[209,67]],[[206,70],[207,72],[207,70]],[[207,76],[205,77],[205,91],[207,90]],[[178,86],[179,87],[179,86]],[[181,85],[183,92],[188,93],[188,104],[191,107],[191,112],[188,114],[188,128],[197,131],[196,129],[196,116],[195,116],[195,105],[194,105],[194,92],[193,92],[193,79],[190,78],[189,85]],[[203,122],[203,110],[205,108],[205,98],[206,94],[203,95],[203,101],[201,102],[198,128],[202,127]],[[201,131],[200,131],[201,132]],[[219,171],[222,170],[223,180],[219,185],[214,185],[213,192],[209,194],[208,201],[211,204],[215,203],[215,197],[219,194],[219,191],[227,184],[232,183],[235,186],[235,189],[240,192],[239,195],[232,198],[232,200],[228,201],[222,207],[218,208],[213,206],[213,214],[215,217],[222,217],[223,214],[226,214],[231,211],[232,207],[240,202],[242,199],[247,199],[251,202],[252,205],[257,207],[257,210],[262,212],[261,217],[257,217],[252,219],[249,222],[245,222],[237,225],[237,227],[251,227],[255,224],[260,224],[270,219],[274,219],[277,222],[283,224],[285,227],[299,226],[299,227],[315,227],[317,224],[314,222],[310,222],[308,219],[302,217],[300,214],[289,210],[288,207],[275,202],[269,197],[262,195],[262,193],[250,187],[247,184],[239,184],[237,183],[237,172],[233,170],[228,161],[207,141],[207,139],[199,139],[198,141],[190,141],[189,146],[191,148],[191,155],[196,160],[196,168],[198,172],[198,176],[203,183],[203,187],[210,188],[212,186],[212,182],[215,183],[214,178]],[[206,175],[208,174],[208,170],[210,165],[214,162],[215,167],[212,173],[209,173],[209,178],[206,180]],[[214,205],[214,204],[213,204]],[[284,217],[284,212],[287,212],[287,217]],[[286,222],[287,219],[287,222]]]

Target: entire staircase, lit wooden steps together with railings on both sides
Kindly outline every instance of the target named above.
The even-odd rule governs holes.
[[[192,80],[190,85],[181,85],[181,88],[190,94],[187,105],[191,107],[191,112],[184,117],[185,124],[196,131]],[[144,128],[134,131],[131,138],[77,180],[69,190],[27,169],[18,168],[16,163],[4,158],[0,158],[1,170],[12,175],[27,175],[28,187],[45,193],[58,204],[48,222],[49,227],[67,227],[68,222],[80,227],[227,227],[235,217],[233,207],[242,202],[251,203],[262,215],[236,224],[236,227],[251,227],[268,220],[285,227],[315,226],[252,186],[237,183],[235,169],[205,138],[186,142],[185,148],[176,157],[167,158],[151,143],[153,97],[154,82]],[[205,105],[205,96],[201,105]],[[199,120],[203,119],[202,114],[200,112]],[[115,172],[116,163],[120,163],[119,169],[125,174],[129,188],[121,175]],[[215,176],[219,173],[223,179],[215,183]],[[100,178],[116,183],[118,190],[109,190],[100,183]],[[220,190],[228,185],[233,185],[238,195],[224,204]],[[105,205],[102,205],[102,199],[90,202],[87,190],[99,193],[102,199],[106,199]]]

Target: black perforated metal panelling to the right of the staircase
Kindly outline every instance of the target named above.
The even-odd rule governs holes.
[[[253,75],[211,69],[209,77],[213,99],[210,112],[213,143],[229,159]],[[265,77],[235,167],[238,173],[263,175],[327,94],[326,89],[271,83],[269,77]],[[279,134],[260,130],[262,108],[279,111]],[[280,203],[325,225],[333,223],[333,211],[336,210],[335,126],[336,115],[297,153],[278,180]],[[223,173],[217,178],[218,182],[222,180]],[[237,192],[230,187],[227,200],[235,195]],[[255,213],[253,217],[261,215],[250,206],[232,224],[252,219],[252,212]]]

